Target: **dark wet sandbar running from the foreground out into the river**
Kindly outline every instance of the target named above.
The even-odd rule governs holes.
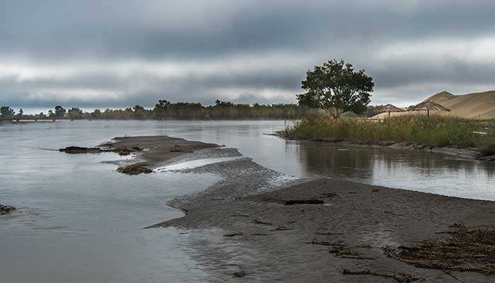
[[[168,137],[126,137],[141,164],[237,156],[180,173],[221,181],[170,205],[185,216],[148,228],[185,230],[213,282],[492,282],[494,275],[419,268],[384,249],[449,237],[453,224],[494,226],[495,202],[445,197],[333,179],[295,179],[264,168],[235,149]],[[184,151],[170,151],[177,146]],[[466,188],[467,190],[469,188]],[[286,205],[291,200],[319,204]],[[323,202],[322,204],[320,204]],[[204,231],[208,233],[205,238]],[[218,232],[220,231],[220,232]],[[194,236],[196,235],[196,236]],[[487,262],[494,264],[494,262]]]

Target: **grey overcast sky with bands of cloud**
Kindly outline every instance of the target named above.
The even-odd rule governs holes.
[[[372,103],[495,89],[495,1],[0,0],[0,105],[292,103],[344,59]]]

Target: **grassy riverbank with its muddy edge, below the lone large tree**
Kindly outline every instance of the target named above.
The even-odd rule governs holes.
[[[493,125],[455,117],[342,118],[296,122],[276,136],[334,144],[389,146],[468,159],[495,160]]]

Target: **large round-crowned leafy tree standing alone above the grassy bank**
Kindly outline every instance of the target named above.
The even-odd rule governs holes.
[[[366,111],[373,92],[373,79],[364,70],[356,71],[344,60],[332,60],[306,72],[297,96],[298,103],[310,108],[322,108],[337,119],[344,112],[360,114]]]

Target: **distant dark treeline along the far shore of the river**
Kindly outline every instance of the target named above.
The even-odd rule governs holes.
[[[159,100],[153,109],[146,109],[141,105],[132,108],[95,109],[93,112],[83,112],[79,108],[66,110],[57,105],[48,113],[37,115],[24,115],[23,110],[16,113],[8,106],[0,108],[0,118],[9,119],[103,119],[103,120],[248,120],[248,119],[302,119],[310,109],[304,105],[295,103],[279,103],[253,105],[231,103],[216,100],[214,105],[202,105],[201,103],[170,103],[168,100]]]

